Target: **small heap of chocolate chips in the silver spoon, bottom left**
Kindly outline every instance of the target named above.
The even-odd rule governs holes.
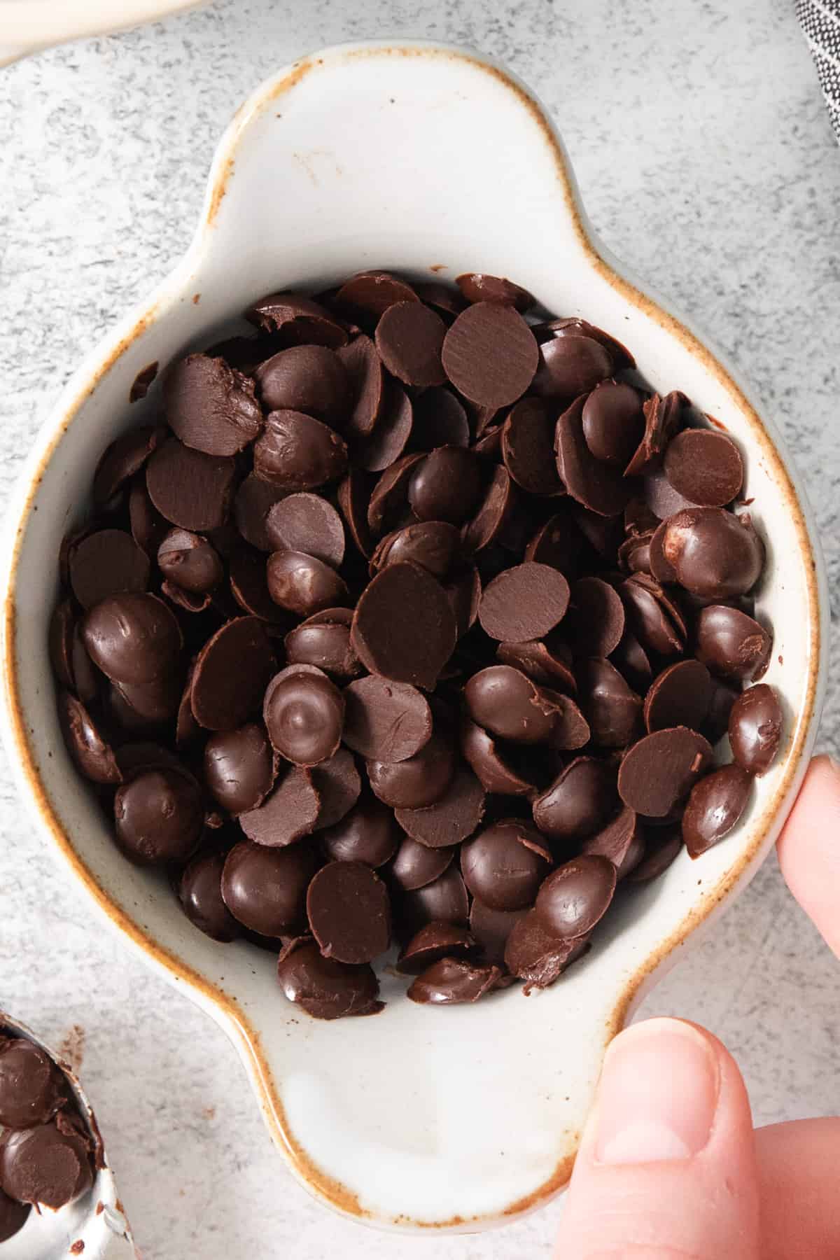
[[[58,1065],[0,1028],[0,1242],[33,1205],[58,1211],[86,1194],[97,1154]]]

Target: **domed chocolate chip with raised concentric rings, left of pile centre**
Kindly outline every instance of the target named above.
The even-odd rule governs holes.
[[[315,665],[288,665],[268,684],[263,721],[281,756],[296,766],[316,766],[341,742],[344,696]]]

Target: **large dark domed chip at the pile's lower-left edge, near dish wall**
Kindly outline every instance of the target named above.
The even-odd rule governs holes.
[[[186,862],[204,827],[204,805],[195,780],[175,770],[146,770],[117,789],[115,834],[137,866]]]

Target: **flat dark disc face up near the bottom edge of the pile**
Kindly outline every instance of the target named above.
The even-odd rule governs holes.
[[[364,862],[329,862],[306,893],[306,914],[324,958],[370,963],[390,945],[388,888]]]

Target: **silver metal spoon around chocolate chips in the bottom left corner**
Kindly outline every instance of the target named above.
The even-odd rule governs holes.
[[[3,1011],[0,1031],[33,1041],[59,1065],[73,1090],[81,1115],[88,1128],[98,1133],[91,1104],[71,1067],[35,1037],[30,1028]],[[40,1213],[30,1212],[23,1230],[3,1244],[3,1260],[64,1260],[68,1255],[83,1255],[84,1260],[135,1260],[131,1230],[117,1197],[105,1150],[102,1163],[91,1189],[74,1203],[63,1207],[60,1212],[52,1212],[49,1208]]]

